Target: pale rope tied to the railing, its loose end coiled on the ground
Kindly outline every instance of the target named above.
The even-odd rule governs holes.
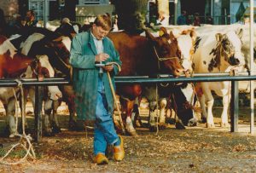
[[[12,145],[12,147],[9,149],[9,151],[3,156],[3,158],[0,159],[0,164],[8,164],[8,165],[15,165],[15,164],[20,164],[21,162],[23,162],[27,156],[29,156],[32,159],[36,159],[36,154],[34,153],[34,149],[32,147],[32,137],[29,135],[26,136],[26,132],[25,132],[25,105],[24,105],[24,91],[22,88],[22,83],[20,82],[20,80],[16,79],[15,82],[18,84],[18,87],[20,87],[20,94],[21,94],[21,119],[22,119],[22,135],[19,134],[18,132],[18,113],[16,110],[16,131],[14,136],[19,136],[20,137],[20,141],[14,145]],[[18,107],[18,100],[17,100],[17,96],[15,94],[15,89],[13,89],[14,91],[14,95],[15,95],[15,106]],[[27,148],[27,144],[28,144],[28,148]],[[7,156],[9,155],[9,153],[11,153],[13,151],[13,149],[15,149],[15,147],[23,147],[24,150],[26,150],[26,154],[23,158],[21,158],[19,161],[17,162],[7,162],[4,161],[5,158],[7,158]]]

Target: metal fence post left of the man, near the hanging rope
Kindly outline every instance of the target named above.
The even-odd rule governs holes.
[[[42,99],[39,86],[35,86],[35,129],[36,142],[42,141]]]

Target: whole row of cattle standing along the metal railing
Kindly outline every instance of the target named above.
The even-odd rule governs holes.
[[[76,34],[73,27],[67,24],[60,26],[55,32],[31,27],[11,37],[0,36],[0,78],[71,78],[70,46]],[[192,72],[230,72],[234,68],[239,72],[248,70],[249,27],[244,25],[169,26],[160,27],[157,33],[147,30],[141,35],[130,35],[120,31],[110,32],[108,37],[113,41],[122,61],[119,76],[155,77],[164,73],[178,78],[182,74],[189,76]],[[230,82],[160,84],[158,87],[160,123],[165,123],[166,107],[171,105],[177,114],[177,128],[196,125],[199,119],[195,116],[194,105],[195,99],[199,99],[201,118],[205,120],[207,127],[213,127],[213,90],[223,97],[221,125],[228,124]],[[75,126],[73,87],[48,86],[42,87],[42,92],[45,134],[60,132],[56,110],[61,101],[67,103],[70,127]],[[151,129],[155,126],[154,110],[158,105],[155,84],[117,84],[116,92],[120,96],[128,134],[137,136],[134,125],[139,118],[134,119],[133,115],[139,114],[138,105],[142,97],[149,102],[149,127]],[[15,95],[20,98],[20,89],[0,88],[9,136],[14,136],[16,131]],[[25,95],[30,96],[32,105],[35,106],[35,89],[26,88]],[[24,100],[26,101],[26,96]]]

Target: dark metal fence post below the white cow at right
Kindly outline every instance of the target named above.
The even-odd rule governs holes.
[[[231,81],[230,119],[231,132],[238,132],[239,93],[238,81]]]

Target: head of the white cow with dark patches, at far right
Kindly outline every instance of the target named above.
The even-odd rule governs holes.
[[[224,56],[224,61],[228,62],[231,66],[244,65],[244,55],[241,53],[241,36],[242,29],[230,31],[225,34],[217,33],[217,51],[220,51],[220,55]]]

